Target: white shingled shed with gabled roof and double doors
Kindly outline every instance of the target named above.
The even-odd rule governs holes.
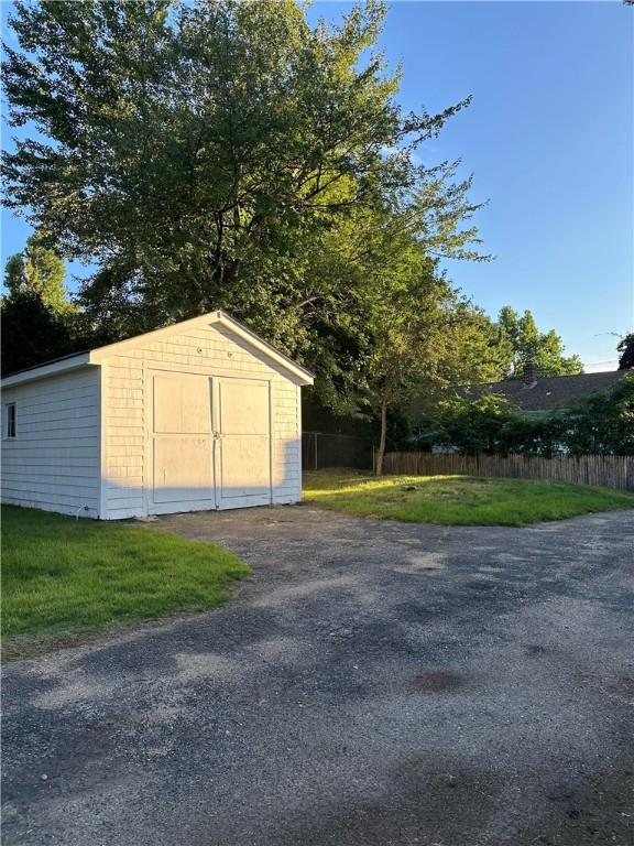
[[[222,312],[2,380],[2,501],[117,520],[302,498],[313,376]]]

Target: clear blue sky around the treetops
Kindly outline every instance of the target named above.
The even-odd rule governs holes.
[[[349,8],[317,2],[309,15]],[[496,259],[448,262],[449,276],[491,314],[529,308],[589,370],[615,367],[606,333],[634,328],[633,36],[634,9],[620,2],[509,0],[395,2],[381,40],[402,64],[406,110],[473,95],[423,158],[474,174]],[[3,210],[2,258],[28,234]]]

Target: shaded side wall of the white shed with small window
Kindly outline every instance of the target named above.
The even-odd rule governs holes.
[[[17,432],[8,438],[7,405],[12,402]],[[99,426],[98,367],[6,388],[2,501],[98,517]]]

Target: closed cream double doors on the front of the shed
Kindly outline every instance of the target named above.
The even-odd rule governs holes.
[[[271,502],[267,381],[153,371],[150,383],[150,513]]]

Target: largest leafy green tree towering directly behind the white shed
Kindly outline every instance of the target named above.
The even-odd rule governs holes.
[[[367,280],[394,278],[378,248],[405,232],[480,258],[470,182],[413,156],[468,100],[403,113],[384,13],[311,28],[292,0],[17,3],[10,121],[42,140],[4,155],[8,203],[97,264],[97,340],[223,307],[313,367],[325,402],[358,402]]]

